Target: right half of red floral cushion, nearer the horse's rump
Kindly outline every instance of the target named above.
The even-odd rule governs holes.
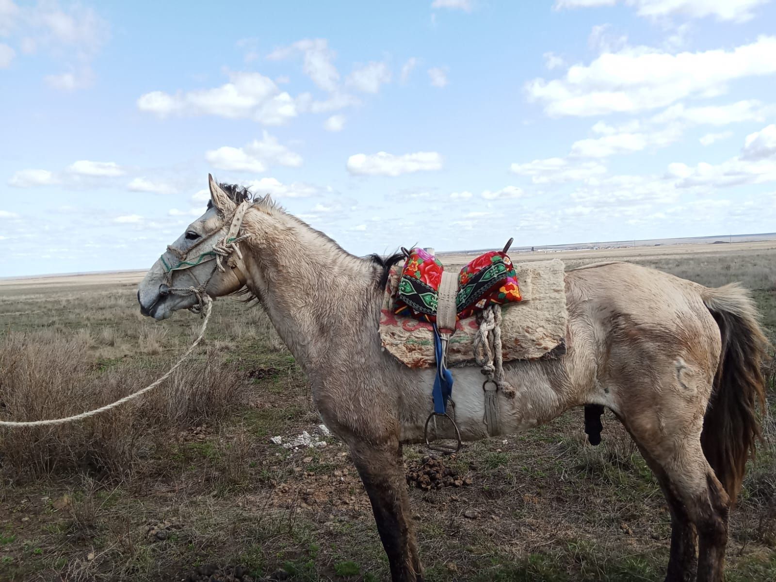
[[[518,275],[506,253],[490,251],[461,269],[458,275],[456,312],[460,319],[471,317],[493,303],[521,301]]]

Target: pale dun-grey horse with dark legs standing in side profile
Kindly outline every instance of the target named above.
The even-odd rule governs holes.
[[[352,453],[393,582],[423,580],[402,462],[424,440],[433,369],[381,348],[387,271],[398,256],[356,257],[269,198],[210,176],[208,209],[140,283],[142,314],[163,320],[233,293],[258,300]],[[215,259],[215,260],[213,260]],[[625,262],[565,273],[566,354],[504,363],[520,398],[497,393],[501,434],[572,407],[607,407],[636,442],[671,517],[666,580],[722,582],[728,516],[764,406],[767,340],[750,293],[711,289]],[[488,436],[480,371],[454,369],[460,436]]]

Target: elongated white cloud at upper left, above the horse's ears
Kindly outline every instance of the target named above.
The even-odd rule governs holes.
[[[214,115],[249,119],[265,125],[282,125],[298,114],[296,102],[281,92],[275,81],[260,73],[233,72],[220,87],[177,92],[152,91],[140,95],[140,111],[169,115]]]

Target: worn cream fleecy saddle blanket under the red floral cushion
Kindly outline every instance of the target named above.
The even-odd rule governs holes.
[[[451,265],[451,268],[455,268]],[[566,289],[563,261],[537,261],[514,265],[522,301],[501,307],[501,347],[504,362],[557,358],[566,353]],[[431,324],[394,313],[401,265],[390,270],[380,314],[383,349],[410,368],[436,365]],[[476,316],[458,321],[447,352],[447,365],[474,365],[474,337],[480,325]]]

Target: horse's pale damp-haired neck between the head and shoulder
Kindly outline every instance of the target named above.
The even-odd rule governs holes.
[[[248,258],[248,288],[305,368],[369,327],[376,308],[376,265],[349,255],[292,217],[279,216],[272,237]],[[274,231],[275,229],[273,229]]]

